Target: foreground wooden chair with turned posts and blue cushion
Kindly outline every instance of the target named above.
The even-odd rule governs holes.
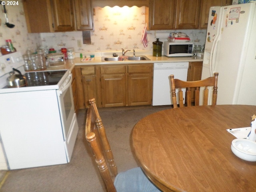
[[[144,175],[141,168],[133,168],[118,174],[105,128],[96,107],[95,99],[89,100],[86,115],[86,141],[92,149],[100,175],[108,192],[160,192]]]

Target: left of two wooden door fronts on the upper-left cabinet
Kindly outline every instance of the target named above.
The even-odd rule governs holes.
[[[73,31],[74,27],[74,2],[73,0],[52,0],[52,13],[54,31]]]

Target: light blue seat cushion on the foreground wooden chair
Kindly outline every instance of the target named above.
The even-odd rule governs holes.
[[[148,180],[140,167],[119,173],[114,186],[117,192],[161,192]]]

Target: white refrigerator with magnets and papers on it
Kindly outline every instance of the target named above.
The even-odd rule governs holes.
[[[217,104],[256,105],[255,2],[210,8],[202,79],[214,72]]]

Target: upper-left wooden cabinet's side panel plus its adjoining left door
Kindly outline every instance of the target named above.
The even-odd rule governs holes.
[[[23,0],[29,33],[74,30],[73,0]]]

